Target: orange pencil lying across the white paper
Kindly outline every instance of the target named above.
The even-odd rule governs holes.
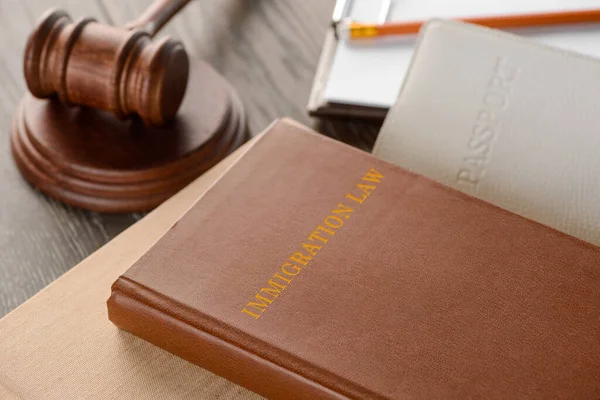
[[[600,9],[540,14],[497,15],[492,17],[468,17],[459,18],[459,20],[496,29],[585,24],[600,22]],[[389,22],[379,25],[350,22],[346,28],[350,40],[361,40],[381,36],[413,35],[419,32],[424,23],[424,21]]]

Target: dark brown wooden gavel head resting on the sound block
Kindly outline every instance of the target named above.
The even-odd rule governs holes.
[[[46,13],[29,37],[24,72],[31,93],[64,104],[139,115],[149,125],[171,119],[183,100],[189,60],[171,39],[153,42],[127,30],[64,11]]]

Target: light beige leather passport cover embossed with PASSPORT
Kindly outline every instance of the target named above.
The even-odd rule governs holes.
[[[600,61],[432,21],[373,153],[600,245]]]

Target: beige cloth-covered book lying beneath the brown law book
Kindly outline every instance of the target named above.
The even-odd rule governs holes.
[[[0,320],[0,399],[260,397],[115,327],[111,284],[248,145]]]

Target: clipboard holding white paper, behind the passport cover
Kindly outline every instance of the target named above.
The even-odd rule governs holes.
[[[344,18],[365,23],[426,21],[431,18],[590,10],[599,6],[598,0],[338,0],[307,111],[316,117],[383,120],[402,86],[416,45],[416,35],[350,44],[336,36],[336,26]],[[510,31],[558,48],[600,58],[598,23]]]

